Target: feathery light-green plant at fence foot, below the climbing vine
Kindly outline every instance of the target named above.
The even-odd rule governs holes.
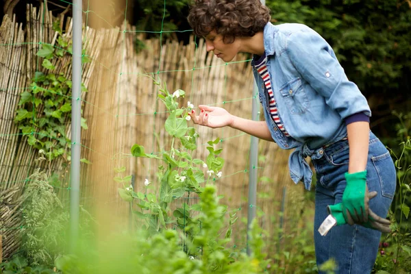
[[[62,238],[69,214],[49,184],[44,172],[37,170],[27,181],[23,193],[24,225],[21,229],[22,249],[30,264],[53,265],[62,253]]]

